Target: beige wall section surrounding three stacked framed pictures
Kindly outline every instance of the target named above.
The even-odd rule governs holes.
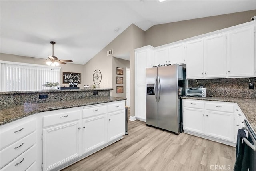
[[[116,74],[116,67],[123,68],[123,71],[124,71],[123,75]],[[130,68],[130,61],[113,57],[113,88],[114,90],[112,92],[112,96],[114,97],[126,98],[126,68]],[[123,84],[116,84],[116,77],[122,77],[124,81]],[[116,93],[116,86],[123,86],[124,93]]]

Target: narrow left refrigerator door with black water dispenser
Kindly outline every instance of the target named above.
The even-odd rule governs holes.
[[[158,105],[157,105],[157,67],[146,69],[146,124],[154,127],[158,126]]]

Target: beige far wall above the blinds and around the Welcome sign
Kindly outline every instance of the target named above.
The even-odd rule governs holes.
[[[28,64],[46,65],[46,63],[45,63],[46,60],[44,60],[44,59],[31,58],[31,57],[27,57],[27,56],[18,56],[18,55],[12,55],[12,54],[3,54],[3,53],[0,54],[0,60],[12,61],[12,62],[22,62],[22,63],[28,63]],[[66,64],[66,65],[60,64],[60,67],[61,67],[61,69],[60,69],[60,85],[62,85],[62,72],[76,72],[76,73],[81,73],[81,84],[78,84],[78,87],[80,87],[80,89],[84,88],[84,80],[82,79],[82,77],[84,75],[84,73],[83,73],[84,65],[72,64],[72,63],[68,62],[68,64]]]

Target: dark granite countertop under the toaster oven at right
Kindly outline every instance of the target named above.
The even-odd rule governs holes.
[[[242,99],[242,98],[229,98],[229,97],[188,97],[184,96],[182,99],[195,99],[195,100],[209,100],[209,101],[224,101],[237,103],[248,122],[250,123],[254,132],[256,132],[256,99]]]

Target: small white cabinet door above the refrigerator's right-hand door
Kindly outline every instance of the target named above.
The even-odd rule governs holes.
[[[184,64],[185,61],[185,46],[179,44],[169,47],[169,60],[171,64]]]

